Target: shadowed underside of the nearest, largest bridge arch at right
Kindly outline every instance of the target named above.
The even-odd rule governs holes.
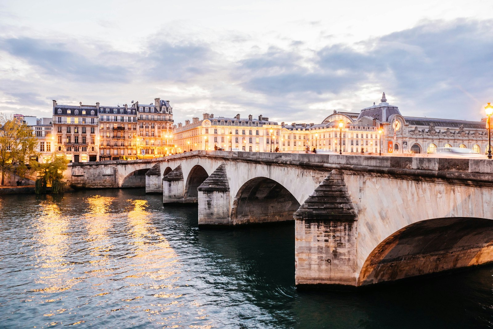
[[[358,286],[493,261],[493,220],[439,218],[408,225],[368,256]]]

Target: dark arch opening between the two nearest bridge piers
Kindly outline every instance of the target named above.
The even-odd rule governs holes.
[[[231,210],[233,224],[293,220],[300,204],[280,183],[257,177],[246,182],[236,194]]]

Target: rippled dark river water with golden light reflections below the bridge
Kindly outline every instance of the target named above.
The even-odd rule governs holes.
[[[143,190],[0,198],[0,327],[492,328],[493,267],[294,288],[292,224],[197,228]]]

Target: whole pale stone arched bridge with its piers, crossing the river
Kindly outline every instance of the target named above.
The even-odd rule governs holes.
[[[488,159],[193,151],[66,178],[145,182],[165,205],[198,202],[199,226],[294,219],[297,285],[364,286],[492,262],[492,173]]]

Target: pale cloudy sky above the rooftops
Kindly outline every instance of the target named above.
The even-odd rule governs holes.
[[[0,0],[0,112],[160,97],[175,122],[320,122],[385,91],[403,115],[479,120],[492,12],[492,0]]]

